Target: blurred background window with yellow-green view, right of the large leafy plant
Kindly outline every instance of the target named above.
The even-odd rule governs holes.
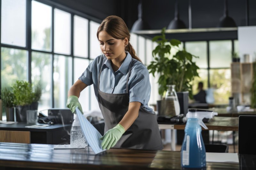
[[[238,43],[234,41],[234,50],[237,49]],[[228,97],[231,95],[230,63],[232,59],[232,41],[186,42],[186,50],[193,55],[199,56],[194,60],[200,69],[198,70],[199,77],[196,77],[193,81],[193,94],[198,92],[198,82],[201,81],[204,83],[204,90],[213,89],[214,103],[228,103]]]

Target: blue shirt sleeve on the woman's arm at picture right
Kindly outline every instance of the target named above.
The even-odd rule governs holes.
[[[148,70],[143,67],[134,74],[131,81],[129,91],[130,102],[138,101],[142,105],[148,104],[151,91]]]

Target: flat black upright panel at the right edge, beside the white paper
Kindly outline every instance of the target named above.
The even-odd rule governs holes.
[[[239,116],[238,153],[256,155],[256,116]]]

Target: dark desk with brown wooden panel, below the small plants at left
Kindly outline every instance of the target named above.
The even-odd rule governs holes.
[[[44,128],[26,128],[33,123],[16,122],[13,124],[0,124],[0,142],[34,143],[34,144],[60,144],[63,137],[68,137],[71,124],[54,124]],[[20,135],[17,137],[17,135]],[[69,138],[66,139],[69,141]]]

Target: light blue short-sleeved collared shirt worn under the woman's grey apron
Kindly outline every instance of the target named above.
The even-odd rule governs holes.
[[[79,77],[79,80],[84,82],[86,85],[93,85],[97,100],[98,76],[100,73],[100,67],[105,57],[106,56],[104,54],[96,57],[89,64],[84,73]],[[120,68],[114,72],[111,66],[111,61],[107,59],[103,63],[100,75],[100,91],[114,94],[125,93],[127,73],[129,71],[128,67],[132,60],[136,59],[132,58],[130,53],[127,53]],[[138,60],[136,60],[132,67],[128,81],[128,89],[130,95],[129,102],[138,101],[142,104],[142,107],[153,113],[153,109],[148,107],[148,101],[151,92],[148,69]]]

